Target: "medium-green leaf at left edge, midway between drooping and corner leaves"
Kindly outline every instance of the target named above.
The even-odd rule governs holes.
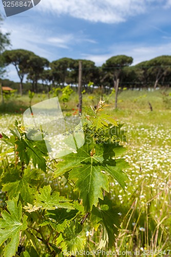
[[[4,173],[2,178],[3,191],[7,192],[9,199],[13,197],[18,199],[19,195],[21,195],[25,203],[32,204],[34,200],[33,194],[36,192],[36,188],[33,185],[39,179],[38,172],[26,169],[23,177],[20,176],[20,173],[17,169],[10,169],[9,172]]]

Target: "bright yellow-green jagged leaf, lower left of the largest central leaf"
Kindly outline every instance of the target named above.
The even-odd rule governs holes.
[[[54,210],[57,208],[74,209],[73,205],[69,203],[69,200],[64,196],[60,196],[59,192],[53,192],[51,194],[51,187],[44,186],[40,189],[40,193],[37,193],[35,206],[41,209]]]

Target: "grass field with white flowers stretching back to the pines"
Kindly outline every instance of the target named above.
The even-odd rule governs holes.
[[[103,100],[112,103],[113,98],[104,96]],[[45,99],[47,97],[44,95],[35,96],[32,105]],[[84,95],[83,105],[96,105],[98,99],[98,95]],[[131,166],[126,171],[129,180],[125,193],[116,181],[110,181],[109,197],[119,206],[122,219],[121,230],[113,248],[116,252],[131,251],[134,255],[136,250],[139,251],[137,255],[142,256],[171,254],[170,99],[162,90],[126,90],[119,95],[117,110],[113,109],[114,105],[107,108],[107,113],[124,123],[128,150],[124,158]],[[152,112],[149,102],[153,107]],[[77,95],[71,96],[69,103],[61,103],[64,113],[77,115],[77,103]],[[22,119],[22,113],[28,107],[28,96],[13,98],[4,107],[1,106],[0,133],[8,134],[8,127],[15,119]],[[65,190],[69,194],[69,188]],[[89,244],[86,247],[90,250],[96,246],[99,234],[88,226],[85,233],[89,237]]]

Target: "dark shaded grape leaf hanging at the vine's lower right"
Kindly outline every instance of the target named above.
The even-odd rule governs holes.
[[[104,230],[104,238],[102,241],[106,241],[108,248],[111,248],[115,243],[115,236],[118,235],[118,229],[120,228],[120,215],[119,209],[113,207],[113,203],[106,196],[104,200],[99,201],[99,207],[93,206],[90,222],[94,229],[97,231],[100,224]],[[105,233],[107,232],[107,236]],[[104,247],[104,245],[103,245]]]

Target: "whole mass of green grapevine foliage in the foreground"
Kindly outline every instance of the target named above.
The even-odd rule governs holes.
[[[68,87],[66,94],[70,93]],[[25,248],[21,253],[24,257],[56,256],[61,252],[74,255],[89,244],[87,227],[97,231],[98,249],[114,245],[120,228],[119,210],[105,193],[110,191],[109,181],[113,179],[125,190],[127,175],[123,170],[129,166],[121,158],[126,151],[122,125],[103,114],[106,105],[100,101],[97,109],[84,108],[84,145],[79,148],[78,144],[77,152],[55,160],[55,165],[47,156],[48,142],[29,140],[26,132],[31,132],[20,122],[15,122],[10,137],[2,135],[2,256],[19,254],[19,244]],[[71,135],[65,134],[65,142],[71,146]]]

